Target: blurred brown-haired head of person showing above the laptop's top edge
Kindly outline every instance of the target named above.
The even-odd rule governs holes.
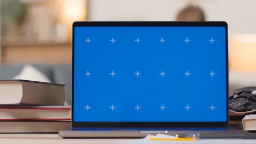
[[[178,11],[176,21],[206,21],[205,13],[196,5],[188,5]]]

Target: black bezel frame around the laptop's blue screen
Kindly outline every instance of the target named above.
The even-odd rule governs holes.
[[[170,21],[111,21],[111,22],[74,22],[72,26],[72,128],[86,129],[211,129],[211,128],[228,128],[229,127],[229,102],[228,102],[228,23],[224,21],[214,22],[170,22]],[[226,36],[226,122],[74,122],[74,39],[75,27],[225,27]]]

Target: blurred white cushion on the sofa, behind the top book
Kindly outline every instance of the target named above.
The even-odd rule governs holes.
[[[29,80],[29,81],[39,81],[39,82],[51,82],[48,77],[41,73],[38,69],[34,68],[32,65],[25,65],[20,74],[13,77],[13,80]]]

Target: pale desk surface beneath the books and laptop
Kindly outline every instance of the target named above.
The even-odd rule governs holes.
[[[134,140],[134,139],[133,139]],[[72,144],[130,144],[133,143],[131,141],[133,140],[128,140],[128,139],[61,139],[57,134],[1,134],[0,135],[0,143],[5,144],[5,143],[19,143],[19,144],[30,144],[30,143],[36,143],[36,144],[66,144],[66,143],[72,143]],[[143,142],[139,142],[143,143]],[[159,143],[159,142],[154,142],[150,141],[147,142],[150,144],[153,143]],[[164,143],[191,143],[191,142],[178,142],[178,141],[168,141]],[[197,140],[196,142],[193,143],[199,143],[199,144],[240,144],[240,143],[246,143],[246,144],[255,144],[256,140]]]

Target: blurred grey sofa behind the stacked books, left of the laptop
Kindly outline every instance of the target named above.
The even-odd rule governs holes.
[[[27,80],[38,80],[38,75],[47,77],[48,81],[52,83],[60,83],[65,86],[65,97],[66,105],[71,105],[71,93],[72,93],[72,68],[69,64],[10,64],[10,65],[0,65],[0,80],[10,80],[18,76],[26,65],[30,65],[34,69],[38,70],[40,74],[35,77],[32,76],[31,71],[27,71]],[[25,77],[26,79],[26,77]],[[45,82],[45,81],[44,81]]]

